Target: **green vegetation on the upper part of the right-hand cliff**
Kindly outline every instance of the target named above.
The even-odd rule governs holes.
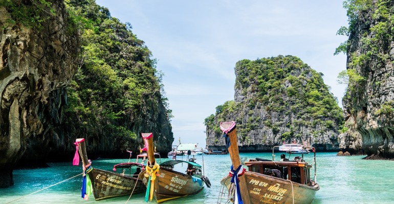
[[[360,67],[382,67],[390,60],[390,50],[394,40],[393,2],[346,0],[343,6],[347,10],[349,25],[340,28],[338,34],[351,38],[341,43],[334,53],[336,55],[342,52],[349,56],[347,70],[338,75],[338,81],[343,82],[343,77],[349,79],[345,82],[348,86],[344,99],[351,103],[351,107],[365,107],[362,97],[369,72],[368,69]],[[359,43],[360,47],[356,44],[352,45],[352,41]],[[384,79],[388,77],[387,73]],[[383,83],[383,81],[371,80],[374,81],[374,90],[379,89]],[[358,111],[354,108],[349,113]],[[380,114],[381,111],[378,113]]]

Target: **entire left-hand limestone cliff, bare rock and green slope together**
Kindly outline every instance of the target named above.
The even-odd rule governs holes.
[[[157,151],[171,150],[170,112],[156,60],[129,25],[93,0],[5,4],[0,187],[13,184],[15,166],[71,161],[76,138],[86,138],[90,159],[137,152],[141,132],[154,133]],[[22,7],[32,13],[20,16]],[[44,17],[29,24],[37,10]]]

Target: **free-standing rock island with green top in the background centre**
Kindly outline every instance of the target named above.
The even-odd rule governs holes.
[[[341,110],[317,73],[299,58],[242,60],[235,66],[234,101],[205,119],[207,148],[224,149],[219,123],[235,120],[240,151],[272,151],[294,141],[338,151]]]

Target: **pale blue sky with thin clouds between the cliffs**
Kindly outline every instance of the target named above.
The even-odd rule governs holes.
[[[292,55],[324,74],[342,107],[338,73],[346,56],[334,56],[347,37],[342,0],[96,0],[151,50],[163,84],[174,145],[206,145],[204,119],[234,99],[235,63]]]

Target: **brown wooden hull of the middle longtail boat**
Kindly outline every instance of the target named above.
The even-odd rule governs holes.
[[[147,185],[147,177],[140,176],[145,186]],[[200,177],[195,175],[195,177]],[[155,193],[154,197],[157,203],[164,202],[179,197],[184,197],[192,194],[199,193],[204,188],[204,182],[193,182],[190,175],[172,171],[169,169],[161,168],[155,180]]]

